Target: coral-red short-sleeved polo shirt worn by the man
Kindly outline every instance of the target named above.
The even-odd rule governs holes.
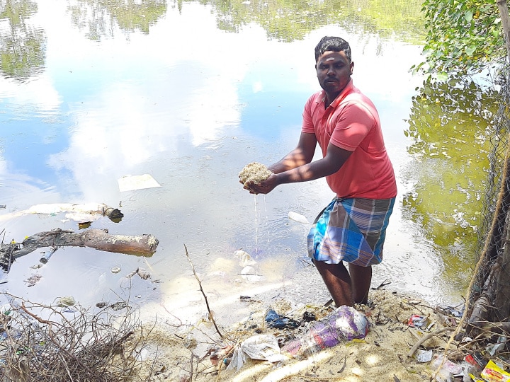
[[[313,133],[326,156],[331,142],[352,151],[344,166],[326,177],[338,197],[389,199],[397,196],[397,183],[387,156],[379,114],[372,101],[353,81],[324,108],[324,91],[315,93],[305,105],[302,132]]]

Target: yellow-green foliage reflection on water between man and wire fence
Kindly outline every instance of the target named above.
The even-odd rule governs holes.
[[[443,277],[467,287],[483,216],[491,127],[498,94],[474,82],[426,83],[414,96],[408,181],[402,204],[444,262]]]

